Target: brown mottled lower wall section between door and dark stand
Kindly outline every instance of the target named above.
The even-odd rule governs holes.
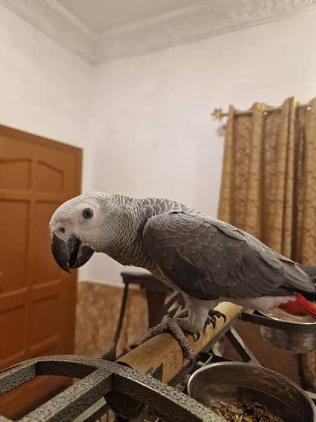
[[[81,281],[78,285],[75,353],[102,356],[112,344],[117,326],[123,289],[100,283]],[[145,293],[130,288],[118,354],[138,343],[147,332]]]

